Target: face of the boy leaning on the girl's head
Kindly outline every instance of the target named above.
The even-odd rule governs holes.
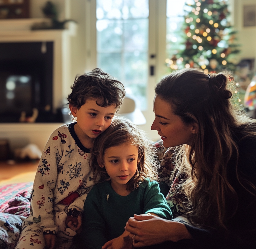
[[[93,139],[104,132],[112,123],[116,113],[115,104],[102,107],[97,105],[96,100],[87,100],[78,110],[77,107],[69,105],[70,111],[77,118],[78,138]],[[76,131],[76,130],[75,130]]]

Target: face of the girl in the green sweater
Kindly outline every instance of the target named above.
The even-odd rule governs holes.
[[[111,178],[111,186],[115,192],[126,189],[127,182],[135,175],[138,161],[138,146],[129,142],[113,146],[105,150],[104,165]]]

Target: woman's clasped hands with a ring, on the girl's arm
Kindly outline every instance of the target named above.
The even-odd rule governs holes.
[[[125,229],[130,232],[134,247],[192,239],[184,224],[148,214],[134,214],[134,217],[129,218]]]

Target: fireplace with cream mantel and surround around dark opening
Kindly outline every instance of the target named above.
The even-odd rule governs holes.
[[[19,122],[34,110],[37,123],[65,122],[61,108],[73,82],[70,37],[76,24],[63,30],[30,30],[41,21],[49,20],[0,20],[0,123]]]

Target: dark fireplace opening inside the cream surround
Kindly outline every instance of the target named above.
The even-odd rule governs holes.
[[[63,122],[52,76],[53,42],[0,43],[0,122]]]

